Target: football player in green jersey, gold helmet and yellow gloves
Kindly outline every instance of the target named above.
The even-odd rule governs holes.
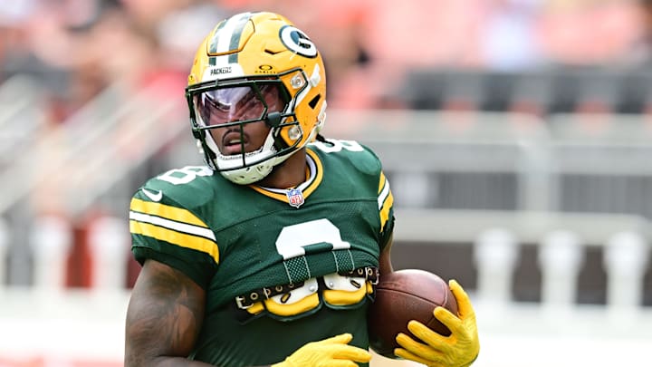
[[[376,155],[327,140],[326,79],[311,39],[279,14],[244,13],[199,46],[186,89],[206,166],[171,169],[134,195],[142,264],[126,321],[127,366],[356,366],[371,356],[367,309],[389,261],[393,197]],[[475,360],[467,295],[437,308],[399,357]]]

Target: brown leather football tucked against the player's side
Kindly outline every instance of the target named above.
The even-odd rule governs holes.
[[[376,298],[369,306],[369,345],[374,352],[396,358],[394,349],[398,333],[408,331],[408,322],[417,320],[436,333],[450,335],[450,330],[433,315],[436,306],[457,314],[455,296],[444,279],[419,269],[397,270],[381,274],[376,286]]]

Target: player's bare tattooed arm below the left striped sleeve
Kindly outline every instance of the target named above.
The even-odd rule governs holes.
[[[127,310],[125,366],[208,366],[186,359],[204,307],[204,290],[187,275],[146,261]]]

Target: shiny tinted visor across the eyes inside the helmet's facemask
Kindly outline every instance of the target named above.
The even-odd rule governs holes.
[[[283,112],[287,93],[280,83],[255,83],[199,92],[193,104],[200,125],[262,121],[270,112]]]

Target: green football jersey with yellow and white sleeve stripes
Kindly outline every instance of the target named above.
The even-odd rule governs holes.
[[[240,186],[186,167],[132,198],[136,259],[173,266],[206,290],[190,358],[270,364],[339,333],[368,347],[366,312],[394,223],[388,180],[355,141],[315,142],[306,152],[296,188]]]

